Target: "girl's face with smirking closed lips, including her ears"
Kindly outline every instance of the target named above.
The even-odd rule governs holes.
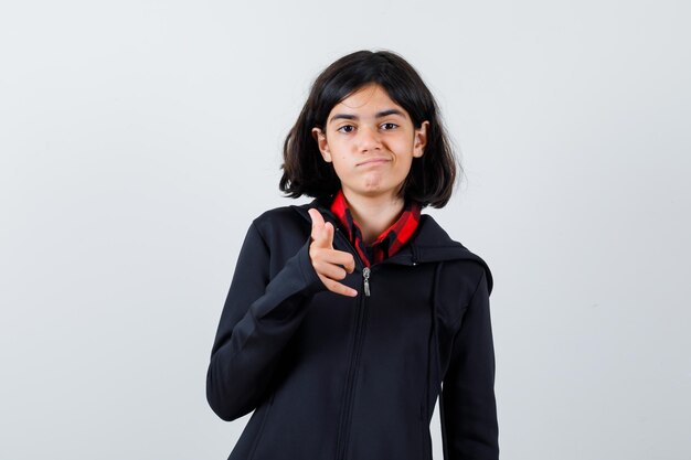
[[[349,200],[400,200],[414,158],[423,156],[428,121],[415,129],[384,88],[369,84],[337,104],[323,130],[312,129]]]

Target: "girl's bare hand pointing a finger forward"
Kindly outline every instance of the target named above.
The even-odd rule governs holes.
[[[333,249],[333,224],[323,221],[319,211],[308,211],[312,220],[312,242],[309,245],[309,258],[315,271],[331,292],[355,297],[358,291],[339,282],[347,274],[355,269],[355,259],[350,253]]]

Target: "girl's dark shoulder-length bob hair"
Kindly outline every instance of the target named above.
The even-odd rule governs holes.
[[[333,165],[323,161],[311,130],[325,129],[333,106],[370,83],[382,86],[408,113],[415,129],[429,121],[425,153],[413,159],[402,194],[423,206],[443,207],[454,189],[456,158],[437,104],[413,66],[387,51],[358,51],[339,58],[317,77],[284,143],[280,190],[290,197],[326,197],[338,192],[341,183]]]

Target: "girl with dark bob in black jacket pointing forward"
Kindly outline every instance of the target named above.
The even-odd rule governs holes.
[[[231,459],[497,459],[485,261],[421,210],[455,159],[436,103],[390,52],[315,82],[284,147],[280,190],[315,197],[249,227],[213,344],[206,396],[254,410]]]

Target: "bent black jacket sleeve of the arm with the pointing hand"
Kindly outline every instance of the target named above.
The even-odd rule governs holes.
[[[206,399],[224,420],[242,417],[262,402],[307,303],[323,289],[309,259],[309,240],[273,279],[270,257],[253,223],[237,258],[206,373]]]

